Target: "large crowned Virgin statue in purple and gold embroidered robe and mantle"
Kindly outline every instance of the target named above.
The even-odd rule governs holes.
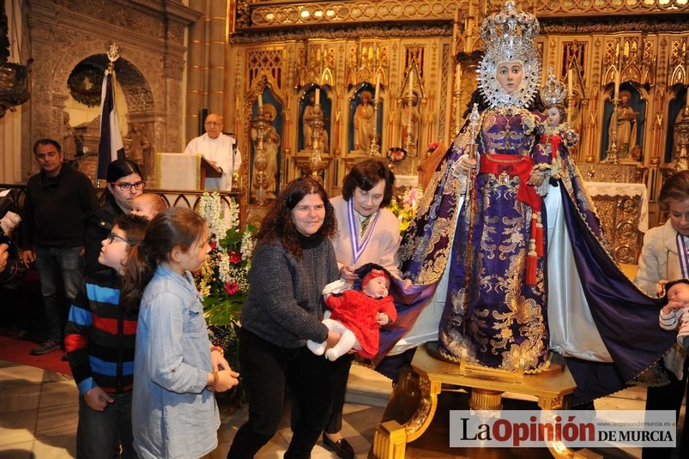
[[[661,300],[615,263],[566,148],[551,176],[551,151],[540,139],[537,19],[508,1],[480,33],[475,112],[402,239],[402,272],[414,285],[381,348],[404,337],[433,296],[442,314],[423,321],[437,327],[445,358],[465,354],[506,371],[523,361],[539,373],[558,351],[577,382],[574,402],[592,400],[635,380],[674,336],[658,326]]]

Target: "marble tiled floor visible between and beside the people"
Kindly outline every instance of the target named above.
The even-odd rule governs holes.
[[[358,459],[367,457],[373,431],[382,418],[390,391],[390,382],[386,378],[364,367],[353,367],[342,433],[351,442]],[[645,389],[626,389],[597,400],[596,408],[644,409],[645,397]],[[0,360],[0,459],[74,458],[77,400],[78,393],[71,376]],[[225,458],[234,434],[246,420],[247,407],[223,409],[221,413],[218,448],[205,459]],[[282,458],[290,438],[289,407],[285,407],[278,433],[257,457]],[[472,457],[480,457],[480,451],[476,452]],[[620,453],[621,456],[616,457],[641,456],[638,448]],[[336,456],[318,442],[311,457],[325,459]]]

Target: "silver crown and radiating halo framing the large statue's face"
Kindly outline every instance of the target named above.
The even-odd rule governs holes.
[[[478,68],[478,86],[491,108],[523,108],[533,100],[541,79],[541,59],[535,45],[540,30],[536,17],[517,10],[513,0],[506,1],[502,11],[486,17],[480,30],[485,53]],[[495,79],[497,65],[504,61],[520,61],[524,68],[524,79],[511,94]]]

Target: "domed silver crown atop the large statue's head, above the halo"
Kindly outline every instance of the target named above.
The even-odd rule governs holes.
[[[486,56],[497,61],[528,61],[535,57],[539,31],[535,16],[517,10],[514,1],[508,0],[502,11],[486,17],[480,35]]]

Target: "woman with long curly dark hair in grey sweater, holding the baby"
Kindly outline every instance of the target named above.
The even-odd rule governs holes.
[[[228,458],[253,458],[274,436],[285,385],[300,413],[285,458],[309,458],[325,428],[331,405],[327,360],[312,354],[306,340],[332,346],[340,339],[320,322],[322,289],[339,276],[330,241],[336,231],[333,206],[310,177],[287,184],[260,225],[239,338],[249,420]]]

